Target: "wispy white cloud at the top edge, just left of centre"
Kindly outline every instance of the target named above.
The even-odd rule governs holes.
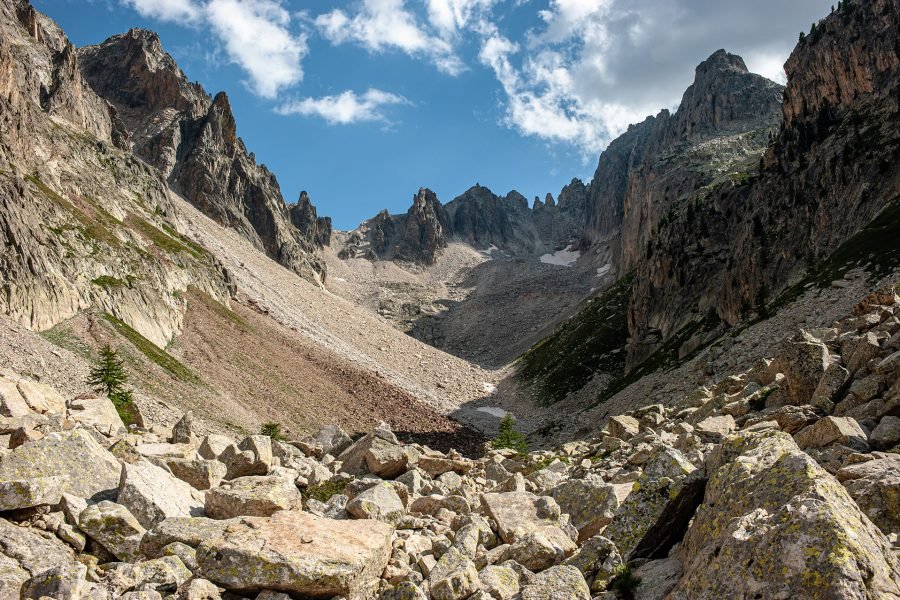
[[[317,16],[313,23],[333,44],[352,42],[370,52],[397,49],[411,56],[424,56],[450,75],[465,68],[451,44],[431,35],[407,10],[405,0],[363,0],[355,14],[334,9]]]

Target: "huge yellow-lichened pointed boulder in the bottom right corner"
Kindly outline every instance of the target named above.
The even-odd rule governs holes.
[[[672,597],[900,597],[890,543],[789,435],[729,438],[707,468]]]

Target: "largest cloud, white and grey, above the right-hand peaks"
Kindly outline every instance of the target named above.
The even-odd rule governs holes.
[[[827,10],[822,0],[550,0],[521,40],[487,30],[479,58],[500,82],[506,125],[589,156],[676,107],[694,67],[719,48],[783,83],[796,32]]]

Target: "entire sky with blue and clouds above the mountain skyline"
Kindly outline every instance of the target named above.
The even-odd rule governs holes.
[[[476,182],[554,196],[719,48],[783,82],[821,0],[33,0],[77,46],[158,32],[339,229]]]

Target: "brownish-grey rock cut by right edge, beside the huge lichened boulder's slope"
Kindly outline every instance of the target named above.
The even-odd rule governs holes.
[[[900,454],[874,456],[843,467],[835,476],[881,531],[900,534]]]

